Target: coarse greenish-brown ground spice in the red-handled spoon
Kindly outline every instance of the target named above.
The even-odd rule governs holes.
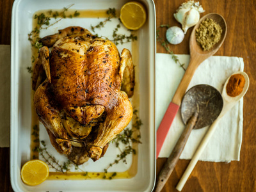
[[[196,29],[196,42],[204,51],[208,51],[220,41],[221,26],[212,19],[205,19]]]

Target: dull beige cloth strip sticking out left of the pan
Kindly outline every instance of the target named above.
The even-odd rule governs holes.
[[[0,45],[0,147],[10,147],[10,45]]]

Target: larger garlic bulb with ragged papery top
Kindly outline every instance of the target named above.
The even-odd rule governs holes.
[[[188,1],[182,3],[180,7],[174,13],[175,19],[182,24],[184,34],[186,34],[188,28],[195,26],[200,19],[200,13],[203,13],[204,9],[199,2]]]

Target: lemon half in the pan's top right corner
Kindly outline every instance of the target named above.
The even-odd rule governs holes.
[[[145,23],[146,18],[147,13],[141,3],[132,1],[124,4],[121,8],[120,20],[127,29],[140,29]]]

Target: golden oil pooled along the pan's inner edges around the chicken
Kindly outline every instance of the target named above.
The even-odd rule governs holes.
[[[52,10],[54,12],[61,12],[61,10]],[[74,14],[75,10],[67,10],[65,15],[72,15]],[[80,13],[78,17],[80,18],[108,18],[109,15],[106,13],[106,10],[78,10]],[[46,17],[52,17],[52,13],[50,15],[50,10],[38,11],[35,14],[40,15],[44,13]],[[34,15],[35,15],[34,14]],[[116,17],[118,18],[120,15],[120,10],[116,10]],[[77,18],[77,17],[76,17]],[[57,17],[58,20],[58,17]],[[38,26],[36,19],[33,20],[33,29]],[[90,31],[90,29],[88,29]],[[135,31],[136,36],[138,36],[138,32]],[[138,37],[139,38],[139,37]],[[33,58],[37,58],[38,56],[38,49],[35,46],[32,47],[32,55]],[[35,59],[33,59],[35,60]],[[132,42],[132,61],[134,62],[135,66],[139,65],[139,56],[138,56],[138,41]],[[35,62],[32,62],[34,65]],[[135,86],[134,86],[134,95],[132,97],[132,108],[138,109],[140,106],[140,97],[139,97],[139,67],[136,67],[135,70]],[[32,86],[31,86],[32,87]],[[31,159],[38,159],[38,151],[35,150],[40,145],[39,140],[39,121],[36,115],[35,106],[33,104],[33,97],[35,92],[31,89]],[[134,118],[132,118],[132,122],[134,122]],[[136,127],[132,126],[133,134],[140,134]],[[135,135],[136,138],[136,135]],[[129,179],[134,177],[138,172],[138,143],[132,143],[132,148],[136,150],[136,154],[132,154],[132,163],[128,170],[125,172],[50,172],[49,180],[83,180],[83,179]],[[115,159],[113,158],[113,161]],[[106,165],[108,166],[108,165]]]

